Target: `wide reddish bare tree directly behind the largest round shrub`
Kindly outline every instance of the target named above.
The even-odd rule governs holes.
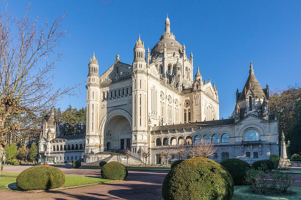
[[[205,157],[213,156],[217,147],[213,145],[212,142],[204,142],[202,139],[200,143],[188,145],[186,151],[187,155],[194,158],[194,157]]]

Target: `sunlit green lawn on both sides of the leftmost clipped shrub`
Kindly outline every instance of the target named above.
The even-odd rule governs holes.
[[[0,178],[0,189],[8,190],[8,184],[15,183],[19,173],[1,173]],[[87,177],[87,176],[76,176],[76,175],[65,175],[65,183],[61,188],[88,185],[88,184],[98,184],[111,182],[113,180],[103,179],[101,177]]]

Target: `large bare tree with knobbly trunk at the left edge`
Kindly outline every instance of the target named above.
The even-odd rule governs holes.
[[[54,88],[55,63],[62,56],[54,51],[67,34],[62,29],[66,15],[46,19],[43,27],[38,18],[28,18],[29,6],[21,19],[0,11],[0,157],[7,137],[38,134],[42,114],[78,86]]]

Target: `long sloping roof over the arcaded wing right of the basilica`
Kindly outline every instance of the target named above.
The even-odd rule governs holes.
[[[234,124],[234,118],[232,119],[220,119],[213,121],[201,121],[201,122],[193,122],[193,123],[185,123],[185,124],[174,124],[174,125],[165,125],[165,126],[156,126],[153,127],[152,131],[167,131],[167,130],[181,130],[181,129],[189,129],[189,128],[200,128],[200,127],[213,127],[213,126],[223,126]]]

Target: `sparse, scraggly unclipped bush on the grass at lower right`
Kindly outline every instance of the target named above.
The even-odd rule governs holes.
[[[266,164],[262,164],[259,169],[250,169],[247,171],[246,184],[250,186],[253,192],[259,190],[261,193],[267,191],[286,192],[287,188],[293,184],[295,179],[292,175],[284,174],[278,170],[271,172]]]

